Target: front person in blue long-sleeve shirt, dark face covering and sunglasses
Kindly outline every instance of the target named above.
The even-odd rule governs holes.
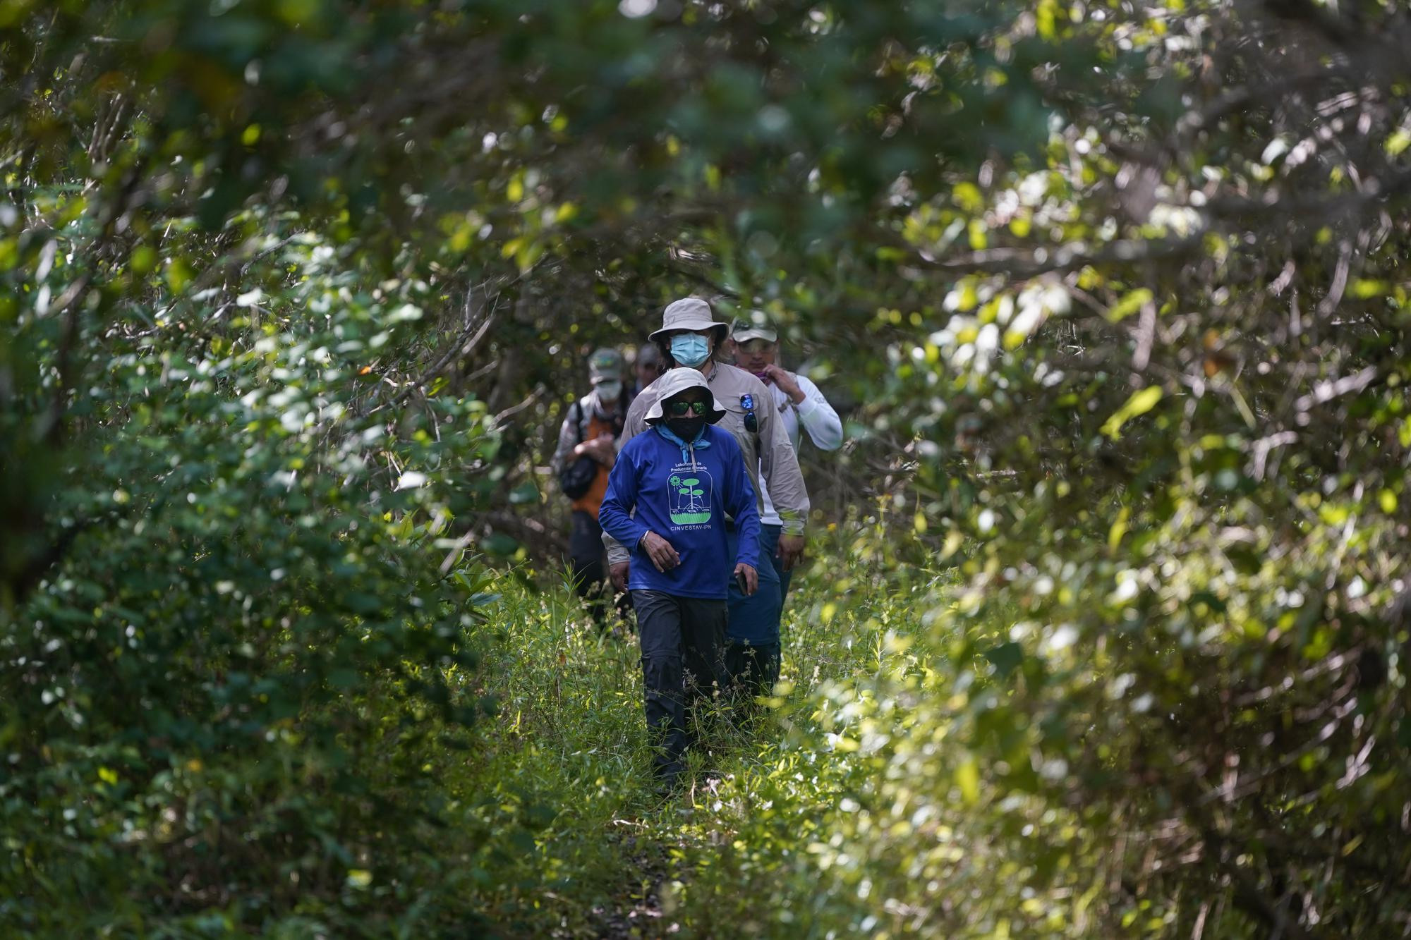
[[[631,548],[646,724],[662,737],[655,771],[669,789],[691,740],[687,696],[694,706],[728,682],[728,586],[758,586],[759,510],[739,445],[714,426],[725,409],[706,378],[676,368],[656,384],[650,430],[618,454],[598,522]],[[734,558],[727,526],[738,536]]]

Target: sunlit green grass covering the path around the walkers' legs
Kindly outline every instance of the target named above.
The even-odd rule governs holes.
[[[498,930],[824,936],[875,926],[866,892],[841,905],[828,896],[817,847],[835,844],[834,817],[855,809],[849,795],[872,769],[852,725],[878,689],[914,697],[928,653],[907,589],[872,577],[844,541],[821,555],[790,596],[777,696],[752,723],[711,716],[684,786],[666,799],[650,786],[635,635],[600,634],[562,584],[526,587],[531,572],[505,579],[476,637],[483,666],[464,676],[467,694],[492,697],[494,716],[440,769],[464,800],[467,831],[484,838],[468,888]]]

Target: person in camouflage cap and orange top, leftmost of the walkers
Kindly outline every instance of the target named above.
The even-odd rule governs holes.
[[[559,428],[559,446],[552,462],[559,488],[569,498],[573,511],[569,570],[579,596],[588,601],[588,610],[600,627],[607,614],[602,598],[607,572],[598,508],[608,488],[608,473],[617,462],[618,440],[626,421],[624,368],[622,354],[615,349],[600,349],[588,357],[593,391],[569,406]]]

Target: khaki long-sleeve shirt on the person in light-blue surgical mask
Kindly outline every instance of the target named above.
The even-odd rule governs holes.
[[[803,484],[803,471],[799,470],[799,456],[789,442],[789,432],[785,429],[777,408],[775,408],[773,394],[745,370],[724,363],[715,363],[711,371],[706,373],[706,384],[725,408],[725,416],[720,419],[717,426],[728,430],[744,452],[745,467],[749,470],[751,483],[755,484],[759,508],[763,508],[763,493],[768,488],[769,501],[773,504],[775,512],[779,514],[783,531],[789,535],[803,535],[804,519],[809,518],[809,490]],[[741,395],[752,395],[755,399],[755,419],[759,422],[756,433],[745,430],[745,408],[739,402]],[[628,409],[626,423],[622,426],[622,436],[618,440],[626,443],[646,430],[646,412],[655,404],[656,382],[652,382],[641,391]],[[765,477],[765,487],[759,486],[761,476]],[[602,534],[602,543],[608,549],[610,565],[628,560],[626,548],[607,532]]]

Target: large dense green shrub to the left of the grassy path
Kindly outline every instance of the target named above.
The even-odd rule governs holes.
[[[286,289],[229,315],[250,339],[95,363],[52,481],[71,543],[0,638],[13,929],[422,916],[446,826],[425,765],[481,710],[446,670],[474,670],[492,583],[437,536],[495,439],[474,401],[388,428],[349,394],[418,296],[350,298],[319,257],[275,254]]]

